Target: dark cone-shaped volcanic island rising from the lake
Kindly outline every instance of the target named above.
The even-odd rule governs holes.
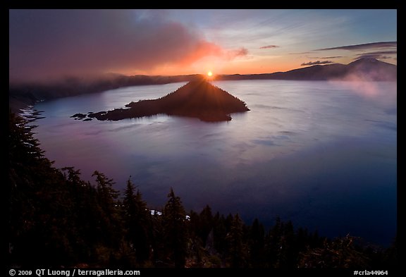
[[[163,113],[168,116],[187,116],[206,122],[218,122],[230,121],[230,113],[250,111],[244,101],[211,85],[204,78],[192,80],[159,99],[131,102],[125,107],[97,113],[75,113],[70,117],[83,121],[90,121],[93,118],[99,121],[120,121],[125,118],[141,118]]]

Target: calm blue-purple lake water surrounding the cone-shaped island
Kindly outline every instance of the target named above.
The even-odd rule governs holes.
[[[215,81],[251,109],[233,120],[154,116],[75,121],[154,99],[185,83],[125,87],[44,101],[34,129],[55,166],[101,171],[123,190],[131,179],[151,208],[169,188],[185,209],[206,204],[222,214],[275,217],[320,235],[361,236],[388,245],[396,230],[397,95],[395,82]]]

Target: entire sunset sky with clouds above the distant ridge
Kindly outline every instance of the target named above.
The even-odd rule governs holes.
[[[9,10],[9,80],[397,64],[397,11]]]

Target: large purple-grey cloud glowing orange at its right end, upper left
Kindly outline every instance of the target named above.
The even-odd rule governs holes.
[[[150,70],[225,54],[230,59],[197,30],[168,20],[162,11],[9,11],[11,80]],[[243,54],[238,49],[231,56]]]

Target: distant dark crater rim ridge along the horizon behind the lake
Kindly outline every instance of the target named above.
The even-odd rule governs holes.
[[[347,65],[333,63],[297,68],[286,72],[216,75],[216,80],[345,80],[345,81],[396,81],[398,66],[376,59],[358,59]],[[39,100],[69,97],[90,92],[103,92],[119,87],[158,85],[171,82],[189,82],[198,75],[147,76],[109,74],[95,80],[67,78],[54,83],[9,84],[8,104],[18,112]]]

